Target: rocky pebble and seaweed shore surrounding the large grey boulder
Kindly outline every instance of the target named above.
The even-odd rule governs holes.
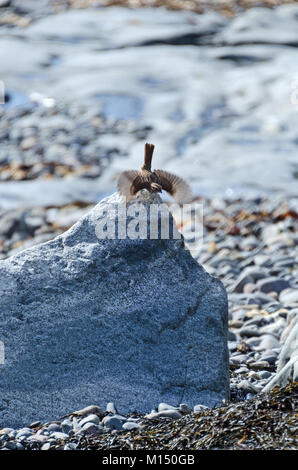
[[[232,12],[231,5],[201,12],[200,2],[189,2],[196,4],[192,11],[199,17],[191,21],[185,16],[168,20],[165,9],[144,13],[143,8],[131,10],[124,5],[123,12],[118,10],[129,2],[114,2],[117,10],[100,2],[66,2],[67,7],[61,2],[59,8],[59,2],[42,1],[40,10],[34,10],[32,2],[21,3],[0,2],[0,45],[5,46],[0,57],[27,53],[39,39],[40,44],[35,57],[28,53],[27,63],[16,66],[19,70],[12,70],[7,59],[3,71],[5,84],[14,78],[0,105],[0,260],[66,232],[115,191],[117,175],[136,165],[145,141],[157,142],[163,164],[170,171],[180,165],[194,200],[203,208],[200,247],[193,256],[222,281],[228,293],[230,400],[215,408],[156,403],[154,410],[140,414],[118,409],[107,396],[105,403],[86,403],[86,408],[51,422],[36,416],[35,422],[21,428],[4,427],[0,449],[296,450],[295,364],[289,373],[294,380],[281,374],[286,361],[297,355],[289,337],[294,336],[298,319],[298,111],[290,99],[291,88],[285,88],[289,76],[282,68],[292,63],[296,53],[291,28],[273,40],[274,22],[279,20],[274,9],[265,8],[272,2],[262,5],[272,15],[266,17],[267,36],[256,40],[252,38],[259,29],[252,27],[250,37],[249,31],[257,13],[249,13],[255,9],[243,5],[240,12],[237,8]],[[183,15],[179,2],[173,3],[171,13]],[[77,8],[85,19],[74,37]],[[94,37],[94,25],[88,33],[86,15],[93,11],[89,8],[99,8],[96,13],[111,8],[111,31],[116,31],[112,40],[109,30]],[[297,5],[283,8],[276,11],[294,31]],[[121,23],[126,15],[128,24],[144,21],[145,16],[130,17],[132,11],[147,14],[150,24],[143,30],[136,27],[130,38],[127,24],[120,28],[122,35],[117,21]],[[159,11],[160,25],[154,16]],[[61,28],[65,14],[74,15],[67,31]],[[248,31],[242,44],[241,25],[233,28],[227,23],[235,14],[239,15],[236,21],[243,22],[243,31]],[[49,18],[56,25],[55,35]],[[192,30],[196,21],[200,34]],[[173,28],[179,30],[176,44]],[[192,41],[195,37],[194,43],[187,43],[186,37]],[[137,73],[140,51],[150,58],[154,48],[161,61],[171,48],[176,54],[171,67],[178,61],[185,75],[181,72],[177,80],[173,75],[169,82],[161,64],[154,66],[160,78]],[[45,50],[50,51],[46,56]],[[99,58],[97,64],[99,50],[105,62]],[[191,65],[198,57],[208,71],[200,72],[200,83],[196,82],[198,69]],[[127,70],[119,69],[124,78],[117,92],[118,84],[108,81],[122,60],[129,65]],[[100,70],[105,76],[98,83]],[[290,78],[294,72],[290,70]],[[75,75],[72,89],[70,73]],[[214,73],[222,77],[215,96],[209,89],[202,103],[190,104],[193,93],[200,94]],[[242,83],[244,77],[250,78],[237,89],[235,80]],[[266,80],[264,97],[261,85]],[[138,83],[133,88],[136,92],[129,83]],[[188,88],[189,94],[182,93],[182,88]],[[288,99],[280,108],[285,96]],[[226,164],[230,151],[231,161]],[[187,221],[180,222],[179,229],[191,250]]]

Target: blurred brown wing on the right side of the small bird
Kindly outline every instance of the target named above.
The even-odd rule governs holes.
[[[162,189],[167,191],[173,196],[180,204],[190,202],[193,199],[193,194],[190,186],[180,178],[180,176],[174,175],[164,170],[154,170],[154,173],[160,179]]]

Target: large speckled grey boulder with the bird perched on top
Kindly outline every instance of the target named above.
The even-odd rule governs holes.
[[[98,239],[119,197],[0,262],[0,428],[109,401],[127,413],[229,398],[223,285],[183,239]]]

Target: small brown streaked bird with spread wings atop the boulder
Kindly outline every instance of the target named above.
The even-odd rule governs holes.
[[[164,170],[151,170],[153,144],[145,144],[144,164],[140,171],[123,171],[118,179],[118,191],[130,200],[141,189],[150,193],[167,191],[177,202],[189,202],[193,198],[189,185],[180,176]]]

